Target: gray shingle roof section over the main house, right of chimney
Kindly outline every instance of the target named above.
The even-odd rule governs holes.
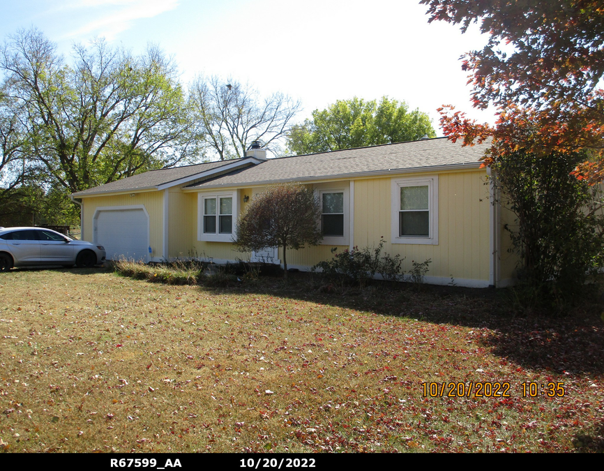
[[[478,163],[488,144],[462,147],[446,137],[436,139],[384,144],[342,151],[271,158],[258,165],[235,170],[211,178],[188,188],[211,188],[215,186],[242,186],[264,184],[271,181],[295,181],[326,179],[366,172],[411,170],[442,165]]]

